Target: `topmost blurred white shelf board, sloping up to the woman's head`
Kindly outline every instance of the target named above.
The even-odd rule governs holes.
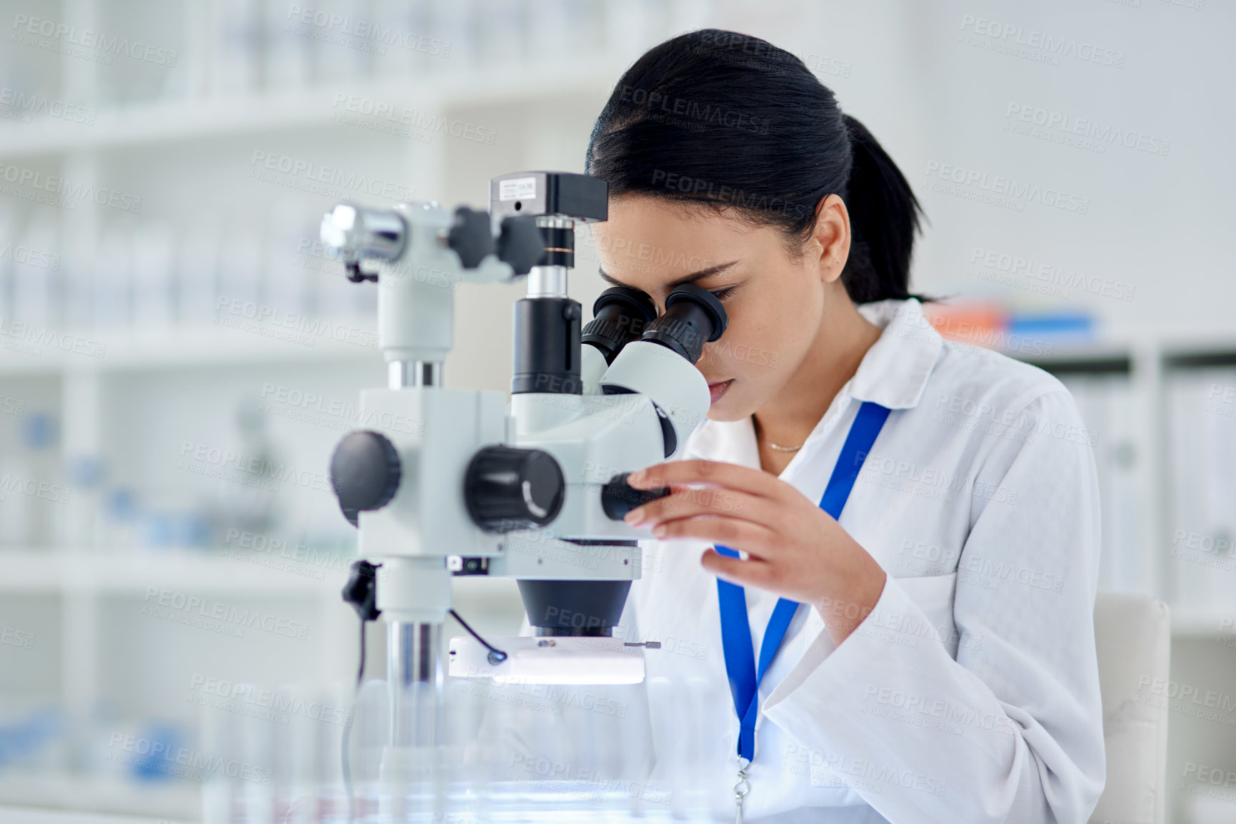
[[[0,157],[54,154],[80,149],[124,148],[200,141],[229,135],[330,126],[349,110],[341,99],[356,96],[405,106],[433,117],[446,109],[608,91],[629,61],[603,54],[561,67],[502,67],[460,74],[409,75],[393,80],[352,80],[330,85],[269,90],[235,98],[143,103],[104,109],[91,125],[44,117],[0,124]],[[341,98],[342,95],[342,98]]]

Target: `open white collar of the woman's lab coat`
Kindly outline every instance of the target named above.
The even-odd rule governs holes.
[[[848,398],[874,400],[889,409],[917,406],[927,387],[939,352],[944,346],[939,332],[923,316],[915,298],[860,304],[861,315],[884,329],[884,334],[863,356],[858,369],[833,401]],[[823,424],[823,420],[821,420]],[[819,434],[817,425],[808,441]],[[687,441],[685,457],[722,460],[759,468],[759,445],[750,418],[734,421],[705,419]],[[789,467],[787,467],[789,468]]]

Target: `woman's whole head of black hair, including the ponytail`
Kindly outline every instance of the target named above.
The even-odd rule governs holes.
[[[597,117],[586,168],[609,195],[733,209],[801,245],[816,208],[850,214],[842,283],[854,303],[910,294],[922,210],[892,158],[802,61],[768,41],[705,28],[654,46]]]

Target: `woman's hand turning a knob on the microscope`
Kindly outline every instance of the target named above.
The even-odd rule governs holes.
[[[747,560],[730,558],[709,547],[700,563],[730,583],[812,604],[838,645],[884,592],[875,558],[828,513],[768,472],[671,461],[633,472],[627,483],[672,490],[633,509],[628,524],[650,526],[662,540],[700,539],[745,552]]]

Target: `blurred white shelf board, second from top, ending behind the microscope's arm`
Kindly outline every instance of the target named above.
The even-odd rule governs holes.
[[[334,325],[356,329],[357,340],[377,341],[373,317],[326,320]],[[297,334],[295,330],[282,330],[278,326],[265,327],[265,331],[272,335],[283,331],[289,335]],[[302,338],[311,341],[309,345],[221,326],[168,326],[162,330],[84,329],[64,332],[36,329],[31,334],[32,338],[22,338],[20,335],[10,337],[12,342],[33,347],[35,351],[0,348],[0,376],[63,371],[173,369],[243,363],[321,363],[326,359],[382,362],[382,353],[376,346],[299,334]],[[95,353],[101,353],[101,357]]]

